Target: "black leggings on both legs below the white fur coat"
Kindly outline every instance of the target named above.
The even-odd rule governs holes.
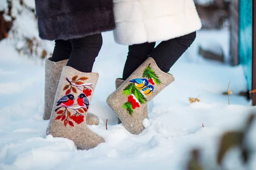
[[[157,66],[164,72],[168,72],[172,65],[194,42],[196,32],[163,41],[156,48],[156,42],[146,42],[129,46],[128,56],[123,71],[123,80],[126,80],[148,57],[152,57]]]

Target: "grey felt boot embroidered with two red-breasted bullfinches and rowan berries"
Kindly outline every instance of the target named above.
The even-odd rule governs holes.
[[[69,66],[63,68],[47,135],[70,139],[86,150],[104,142],[85,121],[98,77],[97,73],[83,73]]]

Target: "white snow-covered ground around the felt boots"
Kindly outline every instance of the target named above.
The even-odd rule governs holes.
[[[104,33],[104,45],[93,68],[100,77],[90,107],[90,112],[99,116],[100,125],[90,129],[106,142],[91,150],[77,150],[68,139],[46,136],[44,63],[20,56],[12,41],[1,41],[0,170],[182,170],[195,147],[203,150],[209,168],[215,163],[219,136],[241,127],[256,111],[250,101],[238,95],[247,89],[241,66],[198,56],[198,45],[215,41],[228,57],[228,35],[225,30],[198,32],[195,43],[170,71],[175,82],[149,102],[145,130],[132,135],[122,124],[116,125],[117,118],[105,102],[114,91],[115,79],[122,76],[128,50],[114,43],[111,32]],[[222,95],[229,81],[233,91],[230,105]],[[190,104],[189,97],[199,97],[201,102]],[[256,132],[256,126],[253,129]],[[256,136],[250,141],[255,144]],[[227,169],[245,168],[236,161],[238,153],[228,154]],[[253,160],[250,166],[256,166],[255,156]]]

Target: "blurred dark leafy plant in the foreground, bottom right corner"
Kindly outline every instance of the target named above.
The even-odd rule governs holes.
[[[208,170],[208,169],[230,169],[229,162],[226,158],[227,155],[233,153],[238,155],[238,161],[232,162],[233,166],[244,167],[250,169],[248,163],[256,154],[253,145],[250,144],[251,130],[253,122],[255,121],[256,114],[249,117],[246,124],[241,130],[226,132],[221,136],[219,148],[217,153],[217,164],[211,164],[209,159],[203,162],[201,159],[201,150],[194,149],[191,152],[191,158],[188,162],[187,168],[189,170]]]

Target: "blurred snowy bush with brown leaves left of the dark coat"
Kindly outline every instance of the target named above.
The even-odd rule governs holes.
[[[4,24],[0,30],[0,40],[7,38],[21,55],[39,58],[50,56],[51,42],[38,37],[34,0],[4,0],[0,9],[0,23]]]

